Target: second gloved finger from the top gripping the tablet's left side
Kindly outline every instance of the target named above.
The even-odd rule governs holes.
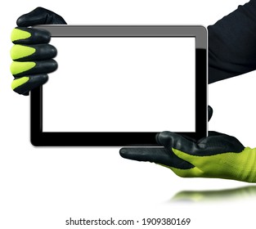
[[[56,56],[56,47],[50,44],[20,45],[11,47],[13,61],[43,61]]]

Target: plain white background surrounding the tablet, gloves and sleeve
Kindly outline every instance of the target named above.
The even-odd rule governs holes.
[[[67,228],[65,220],[70,217],[191,218],[191,225],[184,228],[254,228],[255,191],[246,192],[247,183],[180,178],[168,168],[122,159],[119,148],[34,148],[29,142],[29,97],[11,92],[9,71],[11,29],[16,26],[18,16],[38,6],[58,12],[69,24],[207,26],[243,3],[238,0],[2,2],[0,228]],[[209,104],[214,110],[209,129],[236,136],[245,146],[256,146],[255,81],[255,73],[250,73],[209,86]],[[218,195],[218,191],[239,187],[244,189],[237,195],[233,195],[234,191]],[[186,201],[173,200],[181,191],[205,190],[215,191],[215,198],[190,195]]]

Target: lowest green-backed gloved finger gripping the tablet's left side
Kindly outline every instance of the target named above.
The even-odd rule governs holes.
[[[34,88],[37,88],[40,85],[43,85],[43,83],[47,83],[47,80],[47,74],[23,76],[14,79],[11,83],[11,88],[13,91],[21,95],[28,95],[29,91],[31,91]]]

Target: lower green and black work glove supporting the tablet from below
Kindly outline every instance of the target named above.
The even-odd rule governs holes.
[[[256,182],[256,148],[245,148],[236,137],[209,132],[209,137],[194,141],[174,132],[160,132],[156,139],[164,147],[125,147],[119,153],[126,159],[171,168],[180,177]]]

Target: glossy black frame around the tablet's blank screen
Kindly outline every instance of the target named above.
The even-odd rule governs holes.
[[[195,132],[207,136],[207,30],[201,25],[38,25],[52,37],[193,37],[195,38]],[[170,130],[171,131],[171,130]],[[157,132],[43,132],[43,86],[30,92],[30,141],[34,146],[159,146]]]

